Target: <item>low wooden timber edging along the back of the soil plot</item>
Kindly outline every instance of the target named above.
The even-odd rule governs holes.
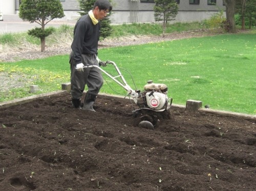
[[[61,92],[65,92],[67,90],[58,90],[50,93],[42,93],[42,94],[37,94],[35,96],[30,96],[26,98],[20,98],[20,99],[15,99],[7,102],[2,102],[0,103],[0,109],[2,108],[8,108],[14,105],[18,104],[24,104],[27,102],[31,102],[33,100],[39,99],[39,98],[44,98],[48,96],[53,96],[54,94],[58,94]],[[98,96],[100,98],[107,98],[107,99],[113,99],[117,101],[125,101],[131,103],[133,100],[128,98],[128,97],[123,97],[123,96],[116,96],[116,95],[111,95],[111,94],[106,94],[106,93],[99,93]],[[176,108],[181,108],[181,109],[186,109],[185,105],[179,105],[179,104],[172,104],[172,107]],[[240,117],[244,119],[249,119],[249,120],[256,120],[256,115],[250,115],[250,114],[244,114],[244,113],[237,113],[237,112],[229,112],[229,111],[222,111],[222,110],[215,110],[215,109],[205,109],[205,108],[199,108],[197,110],[198,112],[206,112],[206,113],[215,113],[219,115],[224,115],[224,116],[232,116],[232,117]]]

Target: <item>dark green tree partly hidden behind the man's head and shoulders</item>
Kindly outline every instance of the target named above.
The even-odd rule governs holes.
[[[81,12],[78,12],[81,16],[86,15],[89,13],[90,10],[93,9],[93,5],[95,3],[95,0],[78,0],[79,1],[79,7]],[[110,3],[112,3],[111,0],[109,0]],[[110,16],[111,16],[112,12],[109,12],[108,15],[102,19],[99,23],[100,23],[100,36],[104,39],[108,36],[111,35],[112,33],[112,28],[110,26],[111,20],[110,20]]]

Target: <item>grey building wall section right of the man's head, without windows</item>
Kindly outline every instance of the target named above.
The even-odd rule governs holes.
[[[135,3],[136,4],[136,3]],[[141,3],[137,2],[138,22],[154,22],[154,3]],[[179,6],[179,12],[175,18],[175,21],[200,21],[209,18],[217,11],[225,10],[222,0],[217,0],[216,5],[207,5],[207,0],[201,0],[199,5],[189,4],[189,0],[181,0]],[[112,22],[124,23],[131,22],[131,0],[119,0],[115,1],[112,15]]]

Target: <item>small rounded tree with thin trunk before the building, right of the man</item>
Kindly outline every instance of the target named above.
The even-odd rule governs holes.
[[[163,37],[168,21],[175,19],[178,10],[176,0],[155,0],[154,16],[156,21],[163,21]]]

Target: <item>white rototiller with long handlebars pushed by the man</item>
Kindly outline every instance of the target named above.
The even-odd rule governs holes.
[[[166,113],[168,113],[167,111],[172,105],[173,99],[167,97],[168,87],[165,84],[156,84],[153,83],[153,81],[147,81],[147,84],[144,86],[143,91],[134,90],[126,83],[123,75],[121,74],[115,62],[100,61],[99,63],[100,66],[106,66],[107,64],[114,65],[118,74],[117,76],[110,75],[108,72],[106,72],[97,65],[84,66],[84,68],[98,68],[105,75],[107,75],[117,84],[123,87],[127,91],[126,96],[131,97],[134,103],[137,105],[137,109],[134,109],[133,113],[135,117],[141,115],[141,122],[139,123],[139,126],[154,129],[154,127],[158,125],[159,115],[165,115],[163,116],[165,118]]]

